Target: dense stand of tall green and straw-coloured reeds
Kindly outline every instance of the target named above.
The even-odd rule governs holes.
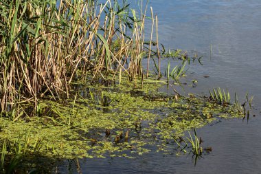
[[[0,0],[1,115],[46,94],[68,97],[89,70],[141,74],[147,4],[139,16],[126,1]]]

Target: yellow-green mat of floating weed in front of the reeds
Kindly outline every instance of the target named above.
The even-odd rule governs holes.
[[[233,105],[218,105],[206,98],[167,96],[158,92],[165,83],[148,80],[122,82],[113,87],[75,84],[71,99],[41,100],[41,116],[10,121],[0,118],[0,140],[17,142],[30,135],[28,153],[46,157],[135,157],[173,141],[193,127],[217,118],[240,117]],[[133,89],[135,87],[135,89]],[[23,141],[22,141],[23,144]],[[174,144],[173,144],[174,145]]]

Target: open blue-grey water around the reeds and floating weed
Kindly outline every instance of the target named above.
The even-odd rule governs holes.
[[[198,85],[185,90],[208,95],[212,87],[228,87],[241,97],[248,91],[255,96],[256,117],[249,122],[221,120],[198,129],[204,146],[212,146],[213,151],[196,166],[191,155],[152,152],[134,160],[82,160],[82,173],[261,173],[261,1],[150,0],[149,5],[159,14],[160,42],[166,48],[204,56],[203,66],[192,66],[193,74],[187,77],[198,80]],[[69,163],[58,171],[77,173]]]

